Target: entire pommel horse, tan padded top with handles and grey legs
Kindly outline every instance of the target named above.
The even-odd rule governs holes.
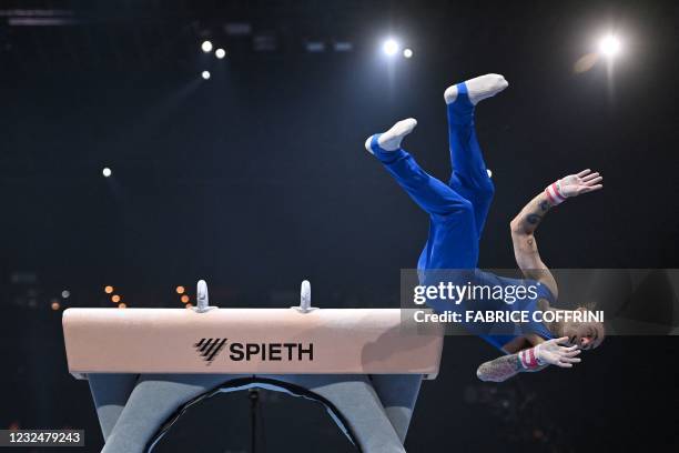
[[[320,401],[362,452],[405,452],[443,331],[405,332],[399,309],[312,308],[307,281],[290,309],[210,306],[202,280],[196,299],[193,310],[64,311],[69,372],[90,382],[104,452],[150,451],[192,402],[249,387]]]

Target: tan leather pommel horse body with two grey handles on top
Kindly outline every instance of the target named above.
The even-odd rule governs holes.
[[[216,309],[202,288],[195,310],[65,310],[69,372],[438,373],[443,332],[406,331],[399,309],[313,309],[304,285],[297,308]]]

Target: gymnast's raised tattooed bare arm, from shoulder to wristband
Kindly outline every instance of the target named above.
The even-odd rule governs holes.
[[[546,285],[555,298],[558,296],[556,280],[543,262],[535,240],[535,230],[545,214],[551,209],[547,194],[541,192],[528,202],[509,223],[514,256],[519,269],[527,279],[536,280]]]

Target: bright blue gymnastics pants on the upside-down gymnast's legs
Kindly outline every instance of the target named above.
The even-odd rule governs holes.
[[[396,182],[429,214],[429,236],[417,269],[475,269],[478,243],[495,188],[474,128],[474,105],[459,83],[447,105],[453,173],[448,183],[425,172],[405,150],[385,151],[373,137],[371,148]]]

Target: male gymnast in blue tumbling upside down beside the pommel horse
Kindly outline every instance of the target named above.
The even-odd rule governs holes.
[[[530,200],[510,222],[514,254],[526,280],[478,270],[478,243],[495,188],[476,139],[474,110],[479,101],[507,87],[508,82],[503,76],[486,74],[454,84],[444,92],[453,167],[447,184],[427,174],[401,147],[405,135],[417,125],[413,118],[398,121],[388,131],[369,137],[365,148],[429,215],[428,240],[417,262],[420,275],[432,270],[472,270],[475,284],[533,283],[539,291],[525,304],[525,309],[534,312],[557,311],[553,305],[558,296],[557,283],[540,259],[535,230],[554,207],[569,198],[601,189],[602,177],[590,170],[564,177]],[[436,312],[450,309],[449,301],[427,303]],[[500,309],[508,310],[504,301],[498,303],[504,305]],[[585,308],[577,310],[586,311]],[[520,332],[513,334],[469,330],[505,354],[482,364],[477,370],[482,381],[493,382],[505,381],[520,372],[540,371],[549,365],[572,368],[580,362],[578,355],[581,350],[599,346],[605,336],[604,325],[597,322],[533,321],[523,324]]]

